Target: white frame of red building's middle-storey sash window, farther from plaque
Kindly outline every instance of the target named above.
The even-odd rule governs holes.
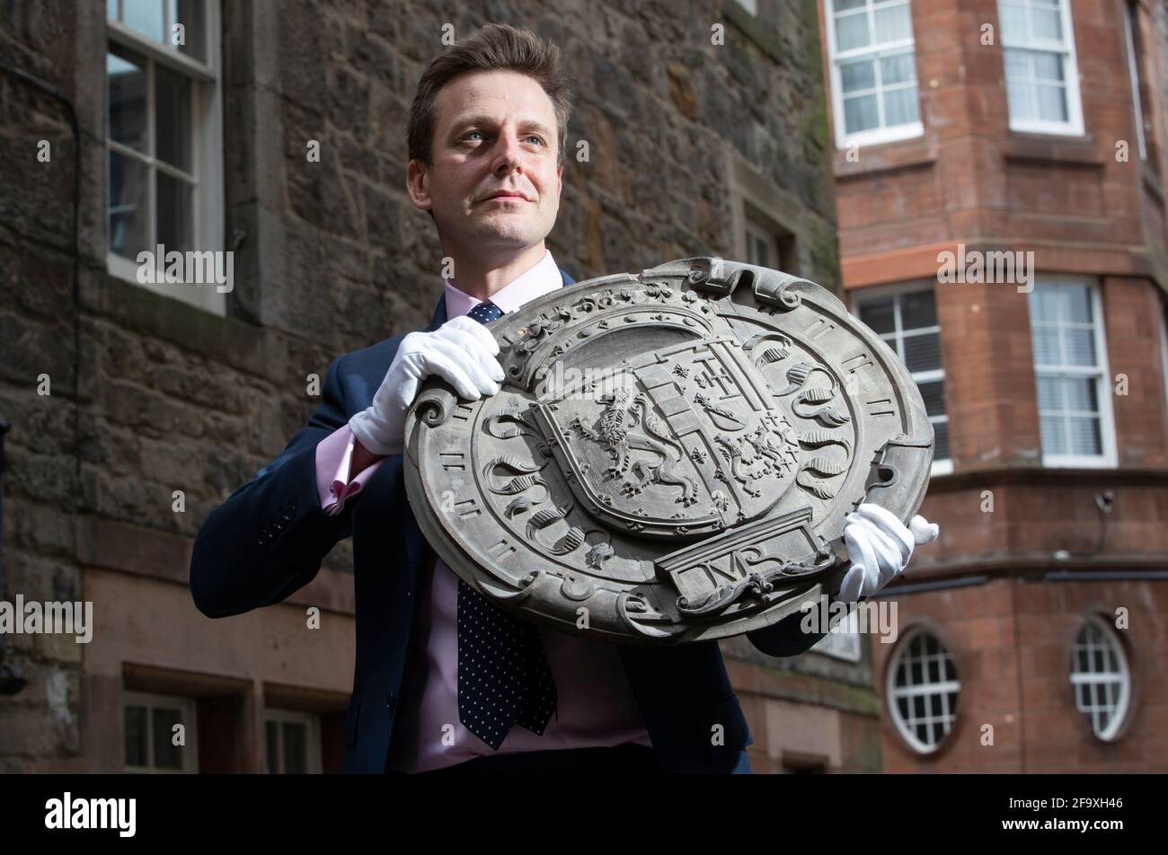
[[[1036,276],[1034,290],[1043,284],[1066,287],[1072,285],[1085,285],[1091,297],[1092,333],[1097,354],[1097,367],[1087,369],[1083,366],[1058,366],[1047,367],[1049,374],[1052,370],[1061,371],[1061,376],[1094,376],[1097,381],[1096,399],[1099,402],[1099,454],[1050,454],[1042,447],[1042,409],[1038,403],[1038,355],[1034,347],[1034,314],[1031,303],[1027,300],[1028,324],[1030,326],[1030,362],[1034,370],[1034,403],[1035,412],[1038,417],[1038,445],[1042,447],[1042,465],[1045,468],[1115,468],[1118,466],[1118,450],[1115,447],[1115,416],[1112,406],[1112,376],[1111,366],[1107,361],[1107,339],[1105,335],[1106,320],[1103,314],[1103,289],[1099,283],[1089,277],[1076,276]],[[1033,292],[1031,292],[1033,293]],[[1028,294],[1030,297],[1030,294]],[[1070,369],[1069,371],[1066,369]]]

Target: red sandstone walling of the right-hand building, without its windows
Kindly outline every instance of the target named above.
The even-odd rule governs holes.
[[[1168,569],[1168,401],[1160,349],[1168,289],[1164,161],[1168,7],[1141,2],[1148,119],[1139,158],[1119,0],[1071,0],[1085,134],[1009,131],[996,0],[915,0],[924,135],[835,153],[844,287],[936,281],[938,252],[1033,251],[1043,273],[1101,286],[1118,468],[1044,470],[1026,293],[1013,284],[937,284],[954,473],[922,513],[941,526],[905,583],[987,584],[897,598],[901,631],[923,621],[957,658],[962,691],[945,748],[917,756],[882,720],[887,771],[1168,771],[1168,583],[1044,582],[1049,571]],[[981,26],[995,44],[980,43]],[[827,50],[825,41],[825,53]],[[833,135],[834,138],[834,135]],[[1128,158],[1117,158],[1117,141]],[[1114,494],[1104,516],[1096,495]],[[993,512],[982,502],[993,499]],[[1063,550],[1069,555],[1058,556]],[[891,595],[895,596],[895,595]],[[1122,635],[1135,696],[1112,744],[1075,709],[1070,646],[1089,611],[1131,610]],[[883,695],[889,645],[872,644]],[[994,725],[995,745],[980,728]]]

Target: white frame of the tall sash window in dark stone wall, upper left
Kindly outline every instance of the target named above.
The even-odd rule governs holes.
[[[103,97],[105,98],[105,256],[107,272],[118,279],[132,283],[154,293],[172,297],[188,305],[202,308],[217,315],[227,314],[227,292],[221,292],[214,284],[189,285],[181,280],[166,277],[165,283],[140,283],[138,280],[139,265],[135,260],[119,256],[110,249],[110,208],[111,190],[109,181],[110,152],[123,153],[124,157],[134,157],[142,160],[140,152],[126,153],[126,146],[118,144],[110,138],[110,105],[109,105],[109,74],[105,70],[105,61],[113,46],[123,47],[142,55],[147,60],[147,134],[151,139],[148,162],[151,172],[151,186],[148,199],[151,200],[151,235],[153,245],[146,249],[157,251],[158,223],[155,209],[155,180],[153,171],[160,167],[154,153],[154,65],[161,64],[192,81],[190,89],[190,126],[192,126],[192,166],[195,185],[192,192],[192,250],[194,251],[224,251],[224,164],[223,164],[223,64],[221,56],[220,39],[216,34],[221,30],[221,8],[218,0],[204,0],[200,8],[203,11],[202,26],[204,28],[206,62],[199,62],[189,56],[175,50],[164,48],[158,42],[131,29],[126,25],[105,18],[105,50],[103,53],[102,75],[105,81]],[[168,35],[168,34],[165,34]],[[172,172],[173,167],[164,165],[161,172]],[[179,171],[181,172],[181,171]],[[169,248],[167,248],[169,251]],[[155,258],[155,263],[161,259]],[[155,273],[155,278],[159,273]]]

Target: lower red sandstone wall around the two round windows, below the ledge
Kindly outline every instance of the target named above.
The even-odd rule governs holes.
[[[887,772],[1164,772],[1168,771],[1168,683],[1161,663],[1168,638],[1162,582],[1022,582],[989,584],[898,599],[902,638],[913,625],[934,627],[954,658],[961,693],[958,717],[941,749],[922,758],[884,716]],[[1075,708],[1071,645],[1084,616],[1114,620],[1132,673],[1132,714],[1121,738],[1098,739]],[[874,644],[883,687],[896,645]],[[993,745],[982,727],[993,725]]]

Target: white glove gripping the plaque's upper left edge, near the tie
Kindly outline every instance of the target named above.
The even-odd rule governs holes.
[[[478,401],[501,388],[505,375],[498,354],[491,331],[465,315],[432,333],[410,333],[398,345],[373,404],[349,419],[353,436],[374,454],[401,454],[405,412],[422,381],[436,374],[454,387],[460,398]]]

